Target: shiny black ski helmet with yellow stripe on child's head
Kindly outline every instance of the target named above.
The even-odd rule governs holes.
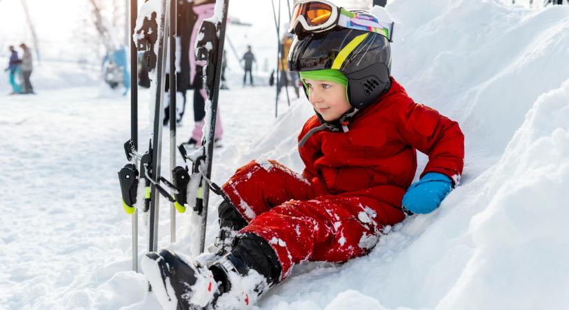
[[[372,14],[353,11],[357,14]],[[391,48],[375,32],[337,26],[325,32],[296,36],[288,52],[293,72],[337,69],[348,78],[348,101],[361,110],[389,90]],[[307,94],[305,89],[305,94]]]

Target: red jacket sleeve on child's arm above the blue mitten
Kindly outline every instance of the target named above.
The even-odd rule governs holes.
[[[421,177],[437,172],[457,183],[464,165],[464,136],[459,124],[410,99],[403,103],[399,115],[403,140],[429,156]]]

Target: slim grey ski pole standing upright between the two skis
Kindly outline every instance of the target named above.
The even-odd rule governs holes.
[[[170,171],[176,167],[176,0],[170,0]],[[166,43],[166,42],[165,42]],[[174,191],[170,190],[172,196]],[[176,207],[170,203],[170,242],[176,242]]]

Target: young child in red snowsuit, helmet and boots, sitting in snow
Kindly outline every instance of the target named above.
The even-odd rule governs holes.
[[[299,175],[251,161],[237,170],[223,185],[216,261],[148,254],[143,271],[163,307],[251,307],[294,265],[366,255],[404,212],[439,207],[462,172],[463,134],[390,76],[391,30],[367,12],[296,3],[288,68],[316,112],[299,135],[306,167]],[[429,161],[411,184],[416,149]]]

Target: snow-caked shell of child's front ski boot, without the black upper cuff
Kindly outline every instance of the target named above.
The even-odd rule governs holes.
[[[270,286],[231,253],[208,269],[164,249],[146,254],[142,270],[164,309],[249,309]]]

